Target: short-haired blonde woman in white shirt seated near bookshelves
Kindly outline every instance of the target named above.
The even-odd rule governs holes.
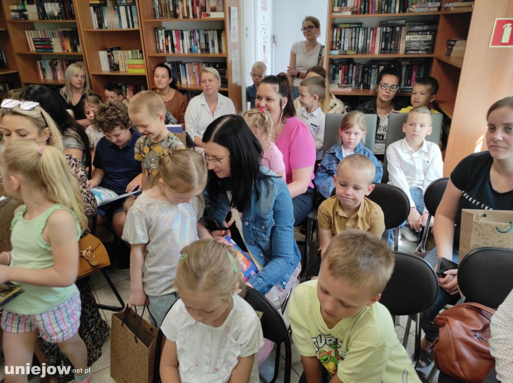
[[[234,114],[235,106],[231,99],[219,93],[221,77],[215,68],[201,68],[200,83],[203,93],[190,100],[185,111],[185,129],[194,139],[194,145],[202,148],[208,124],[225,114]]]

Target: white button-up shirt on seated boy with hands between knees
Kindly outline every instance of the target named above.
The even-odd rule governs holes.
[[[410,188],[420,188],[425,193],[429,184],[443,176],[442,153],[438,145],[427,142],[413,150],[406,137],[390,144],[386,150],[389,183],[401,188],[415,207]],[[424,213],[427,209],[424,208]]]

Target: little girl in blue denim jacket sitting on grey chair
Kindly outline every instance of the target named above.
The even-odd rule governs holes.
[[[342,158],[351,154],[363,154],[369,157],[376,167],[376,175],[374,175],[373,183],[381,182],[383,176],[383,166],[380,164],[376,156],[367,149],[362,139],[367,132],[367,125],[363,113],[352,111],[347,113],[342,119],[339,128],[341,142],[333,145],[324,155],[315,179],[313,182],[317,186],[317,190],[324,198],[331,197],[333,192],[333,176],[337,172],[337,167]]]

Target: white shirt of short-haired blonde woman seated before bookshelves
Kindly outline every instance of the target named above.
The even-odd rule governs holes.
[[[226,114],[235,114],[235,106],[231,99],[218,93],[218,105],[214,113],[210,111],[205,94],[192,98],[185,111],[185,131],[194,137],[203,138],[208,125],[216,118]]]

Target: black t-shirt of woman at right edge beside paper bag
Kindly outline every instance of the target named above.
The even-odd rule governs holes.
[[[513,210],[513,190],[499,193],[491,186],[492,163],[489,152],[470,154],[450,174],[452,184],[463,192],[455,219],[454,249],[460,246],[461,209]]]

